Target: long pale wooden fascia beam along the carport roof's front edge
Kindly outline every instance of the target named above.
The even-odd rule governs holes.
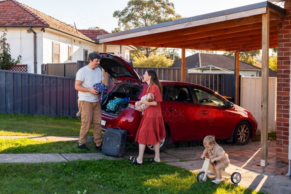
[[[174,24],[171,26],[164,26],[164,27],[155,28],[155,29],[145,29],[139,32],[133,32],[133,33],[123,34],[123,35],[118,35],[118,36],[113,36],[113,37],[108,37],[108,38],[102,38],[99,40],[99,42],[105,43],[105,42],[111,42],[115,40],[122,40],[126,38],[144,36],[148,34],[162,33],[162,32],[173,31],[173,30],[181,30],[181,29],[190,28],[194,26],[204,26],[207,24],[213,24],[217,22],[233,21],[235,19],[240,19],[240,18],[249,17],[249,16],[255,17],[255,15],[260,15],[262,13],[266,13],[266,7],[246,10],[246,11],[227,14],[227,15],[221,15],[217,17],[198,19],[196,21]],[[239,25],[239,23],[237,23],[236,25]]]

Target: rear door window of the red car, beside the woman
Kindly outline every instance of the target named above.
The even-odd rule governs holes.
[[[166,101],[193,103],[189,86],[168,86]]]

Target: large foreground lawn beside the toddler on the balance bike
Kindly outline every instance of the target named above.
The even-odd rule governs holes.
[[[135,165],[128,160],[63,163],[0,163],[1,193],[233,193],[256,194],[222,182],[197,183],[196,173],[164,163]],[[259,192],[261,193],[261,192]]]

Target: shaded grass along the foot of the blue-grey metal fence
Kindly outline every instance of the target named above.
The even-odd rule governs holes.
[[[0,114],[0,136],[79,136],[80,127],[77,118]],[[92,127],[89,136],[93,136]]]

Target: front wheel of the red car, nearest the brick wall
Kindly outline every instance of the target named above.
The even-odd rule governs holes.
[[[235,145],[246,145],[251,138],[251,126],[248,122],[240,122],[233,132],[233,143]]]

